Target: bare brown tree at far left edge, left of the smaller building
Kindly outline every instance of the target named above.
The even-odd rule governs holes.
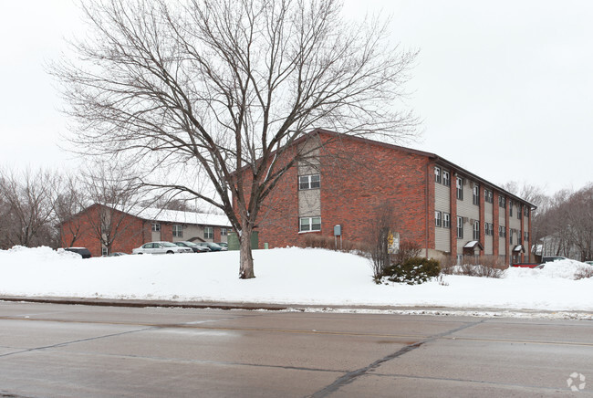
[[[49,172],[23,173],[0,170],[0,212],[4,247],[53,246],[52,187],[56,177]]]

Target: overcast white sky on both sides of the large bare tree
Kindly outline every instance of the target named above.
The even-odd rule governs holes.
[[[549,194],[593,181],[593,2],[346,0],[349,16],[367,10],[421,50],[412,147]],[[58,147],[67,120],[43,64],[80,26],[70,0],[0,0],[0,166],[78,164]]]

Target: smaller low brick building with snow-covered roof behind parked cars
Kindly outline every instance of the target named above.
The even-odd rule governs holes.
[[[231,226],[225,215],[180,212],[155,208],[120,211],[93,204],[59,225],[62,247],[84,246],[93,257],[131,253],[151,241],[226,242]],[[111,231],[113,244],[101,244],[99,231]]]

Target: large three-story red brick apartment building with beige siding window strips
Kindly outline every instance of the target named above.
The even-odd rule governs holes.
[[[344,240],[368,241],[388,205],[396,246],[411,242],[435,258],[528,260],[533,204],[434,153],[332,131],[311,136],[320,149],[289,169],[265,202],[259,246],[305,246],[310,234],[333,237],[335,225]],[[294,151],[307,145],[297,141]]]

